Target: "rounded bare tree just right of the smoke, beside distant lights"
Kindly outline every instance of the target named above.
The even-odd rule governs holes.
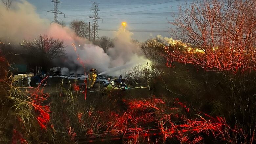
[[[145,56],[153,63],[162,63],[164,54],[164,46],[166,43],[160,38],[151,38],[140,44]]]

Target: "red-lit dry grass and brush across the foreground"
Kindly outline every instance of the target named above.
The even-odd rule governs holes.
[[[39,87],[21,91],[7,86],[0,117],[4,143],[109,143],[108,138],[112,143],[207,143],[231,138],[224,118],[190,111],[169,96],[139,95],[143,89],[134,89],[137,95],[88,94],[85,103],[84,93],[75,84],[51,94]]]

